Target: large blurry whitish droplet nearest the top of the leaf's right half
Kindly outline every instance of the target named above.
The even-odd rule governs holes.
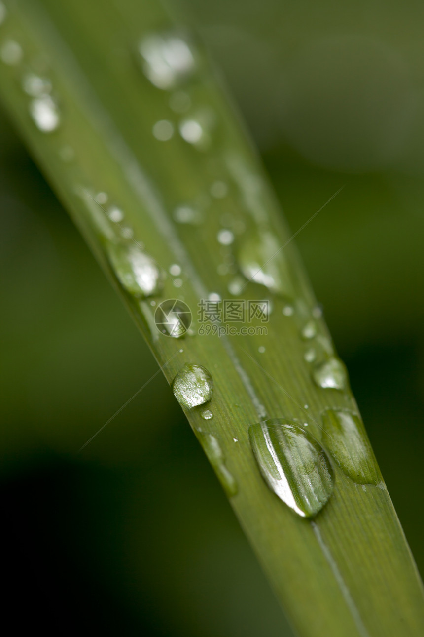
[[[193,74],[196,61],[188,43],[174,33],[150,34],[139,43],[147,79],[158,89],[173,89]]]

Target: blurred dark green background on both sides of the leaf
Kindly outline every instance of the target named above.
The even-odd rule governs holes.
[[[184,0],[259,146],[421,573],[424,5]],[[289,634],[156,363],[1,113],[6,581],[46,633]],[[31,625],[31,624],[30,624]]]

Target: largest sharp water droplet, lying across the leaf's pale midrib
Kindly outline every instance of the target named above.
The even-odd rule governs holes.
[[[250,426],[249,439],[270,489],[301,517],[316,515],[334,486],[331,463],[320,443],[284,419]]]

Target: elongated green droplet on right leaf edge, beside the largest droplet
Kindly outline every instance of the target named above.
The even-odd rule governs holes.
[[[376,484],[381,476],[358,415],[329,409],[322,414],[322,441],[339,467],[353,482]]]

